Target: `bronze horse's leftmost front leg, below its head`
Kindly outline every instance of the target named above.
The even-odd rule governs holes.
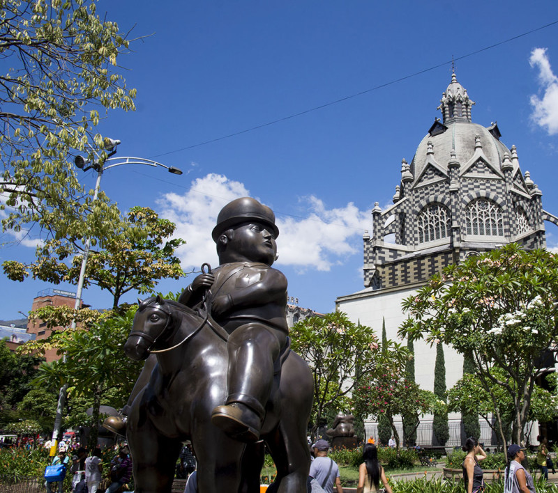
[[[135,492],[170,493],[181,442],[160,435],[145,407],[141,411],[133,409],[127,438],[132,453]]]

